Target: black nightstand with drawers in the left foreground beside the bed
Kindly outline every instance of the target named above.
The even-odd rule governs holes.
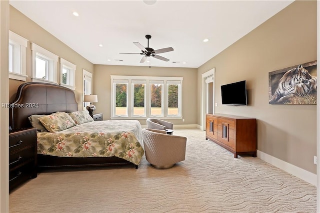
[[[36,178],[36,128],[9,132],[9,191],[29,178]]]

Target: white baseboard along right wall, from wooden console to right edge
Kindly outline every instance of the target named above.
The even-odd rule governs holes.
[[[275,158],[271,155],[268,155],[266,153],[263,153],[259,150],[256,152],[257,157],[260,158],[261,160],[287,172],[290,173],[291,175],[294,175],[295,177],[302,179],[303,181],[306,181],[314,186],[316,186],[316,174],[313,174],[311,172],[308,172],[304,169],[301,169],[297,166],[294,166],[292,164],[289,164],[285,161],[282,161],[278,158]]]

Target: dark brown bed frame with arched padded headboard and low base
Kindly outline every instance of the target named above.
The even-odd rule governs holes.
[[[74,92],[66,87],[50,83],[27,82],[21,84],[17,89],[14,101],[10,104],[9,125],[12,129],[32,127],[28,120],[30,115],[78,111]],[[115,156],[66,158],[37,155],[37,167],[39,169],[114,165],[134,164]],[[138,168],[138,166],[134,166],[135,169]]]

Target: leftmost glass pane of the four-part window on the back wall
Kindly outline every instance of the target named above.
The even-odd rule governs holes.
[[[115,84],[115,115],[127,115],[127,84]]]

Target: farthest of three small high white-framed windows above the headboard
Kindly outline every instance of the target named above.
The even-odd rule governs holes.
[[[60,85],[75,89],[75,68],[76,66],[63,58],[60,58]]]

